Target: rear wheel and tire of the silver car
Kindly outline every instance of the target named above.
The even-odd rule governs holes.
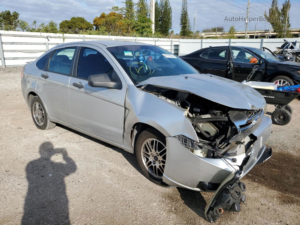
[[[48,119],[45,107],[38,96],[32,98],[30,110],[33,122],[37,128],[41,130],[49,130],[56,126],[55,123]]]

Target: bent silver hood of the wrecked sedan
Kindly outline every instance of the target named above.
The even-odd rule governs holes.
[[[154,85],[190,92],[202,98],[237,109],[256,110],[265,106],[265,99],[253,88],[240,82],[210,74],[157,76],[146,79],[136,86],[142,85]]]

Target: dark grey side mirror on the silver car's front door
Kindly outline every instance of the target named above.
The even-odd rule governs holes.
[[[113,81],[107,73],[90,75],[88,77],[88,85],[95,88],[122,89],[122,82]]]

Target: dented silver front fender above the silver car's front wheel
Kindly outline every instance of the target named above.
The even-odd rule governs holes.
[[[123,146],[131,147],[131,130],[136,123],[148,124],[166,137],[184,135],[198,141],[196,131],[184,116],[185,110],[134,85],[128,85],[125,97]]]

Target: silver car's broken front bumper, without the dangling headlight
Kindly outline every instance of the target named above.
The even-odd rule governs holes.
[[[202,158],[188,151],[175,137],[167,137],[167,163],[163,182],[177,187],[197,191],[214,192],[217,187],[236,170],[241,170],[240,177],[245,176],[265,152],[265,141],[272,132],[271,119],[262,116],[261,123],[253,132],[257,140],[251,152],[237,155],[236,162],[225,158]],[[242,167],[242,168],[240,168]]]

